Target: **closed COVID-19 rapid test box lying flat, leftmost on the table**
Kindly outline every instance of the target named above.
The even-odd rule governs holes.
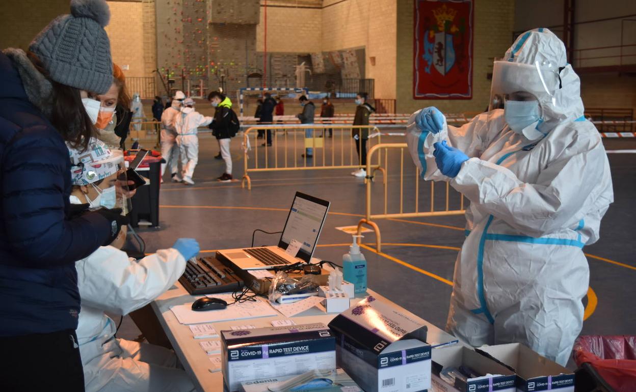
[[[221,331],[225,391],[241,383],[336,369],[336,341],[323,323]]]

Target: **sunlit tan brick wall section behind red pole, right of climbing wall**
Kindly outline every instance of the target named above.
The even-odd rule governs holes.
[[[269,3],[268,3],[269,4]],[[321,51],[322,14],[319,8],[267,8],[267,51],[316,53]],[[265,12],[261,5],[256,26],[256,51],[264,49]]]

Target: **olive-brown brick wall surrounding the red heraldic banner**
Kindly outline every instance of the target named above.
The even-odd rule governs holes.
[[[397,112],[413,112],[436,106],[442,112],[483,111],[490,97],[494,57],[509,48],[515,16],[515,3],[509,0],[476,0],[473,27],[473,99],[413,99],[413,0],[397,0]]]

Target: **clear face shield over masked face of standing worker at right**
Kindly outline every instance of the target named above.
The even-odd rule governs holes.
[[[555,105],[559,88],[558,67],[552,64],[522,64],[495,60],[488,105],[488,121],[501,118],[516,133],[534,140],[543,135],[545,105]]]

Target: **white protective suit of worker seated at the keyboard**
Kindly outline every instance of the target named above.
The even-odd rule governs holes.
[[[100,247],[75,263],[81,310],[77,328],[86,391],[191,391],[190,377],[176,368],[169,349],[116,339],[105,311],[128,314],[168,290],[186,260],[176,249],[141,260],[114,247]]]

